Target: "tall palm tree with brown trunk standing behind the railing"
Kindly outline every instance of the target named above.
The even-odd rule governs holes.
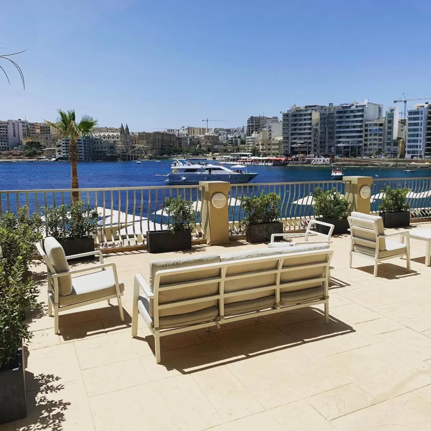
[[[76,145],[79,138],[89,136],[96,131],[97,120],[83,115],[81,121],[76,123],[75,110],[70,109],[65,112],[58,109],[58,118],[55,122],[44,120],[57,133],[58,137],[69,138],[69,159],[72,167],[72,189],[78,188],[78,147]],[[72,192],[72,200],[79,199],[78,192]]]

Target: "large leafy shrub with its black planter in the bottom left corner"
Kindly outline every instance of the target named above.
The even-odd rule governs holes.
[[[26,265],[19,256],[10,266],[0,247],[0,424],[27,415],[22,342],[31,334],[22,313],[34,300],[35,285]]]

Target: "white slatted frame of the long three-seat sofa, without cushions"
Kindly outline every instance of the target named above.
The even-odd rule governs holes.
[[[171,335],[171,334],[178,334],[181,332],[186,331],[193,331],[200,328],[209,328],[211,326],[216,326],[217,328],[220,328],[221,324],[227,323],[227,322],[235,322],[237,320],[243,320],[243,319],[250,319],[252,317],[258,317],[261,315],[268,315],[268,314],[274,314],[278,312],[284,312],[289,309],[298,309],[303,307],[309,307],[317,304],[325,304],[325,322],[329,322],[329,264],[331,262],[333,251],[330,249],[323,249],[323,250],[313,250],[313,251],[305,251],[305,252],[299,252],[299,253],[287,253],[287,254],[277,254],[277,255],[271,255],[271,256],[265,256],[265,257],[255,257],[251,259],[242,259],[242,260],[231,260],[227,262],[216,262],[216,263],[210,263],[206,265],[196,265],[196,266],[188,266],[183,268],[176,268],[176,269],[165,269],[157,271],[155,274],[154,279],[154,292],[151,292],[150,287],[144,280],[144,277],[141,274],[135,274],[134,276],[134,291],[133,291],[133,313],[132,313],[132,337],[135,337],[137,335],[137,320],[138,315],[141,314],[145,323],[147,324],[148,328],[154,335],[154,341],[155,341],[155,354],[156,354],[156,362],[160,363],[160,337]],[[298,258],[309,258],[312,256],[316,256],[316,260],[319,260],[322,258],[321,261],[317,263],[305,263],[300,265],[291,265],[291,266],[284,266],[284,262],[286,259],[298,259]],[[276,269],[261,269],[251,272],[244,272],[241,274],[233,274],[233,275],[227,275],[227,271],[232,266],[241,266],[241,265],[247,265],[247,264],[265,264],[270,263],[271,261],[274,261],[274,267]],[[276,265],[275,265],[276,263]],[[290,281],[287,283],[280,283],[281,274],[284,272],[289,271],[297,271],[299,269],[303,269],[305,271],[310,269],[323,269],[323,277],[320,278],[308,278],[303,279],[300,278],[295,281]],[[181,277],[181,274],[184,274],[186,272],[195,272],[197,270],[203,270],[203,269],[220,269],[219,271],[219,277],[209,277],[209,278],[203,278],[199,280],[193,280],[193,281],[183,281],[183,282],[174,282],[170,284],[162,284],[162,286],[159,286],[160,277],[161,276],[170,276],[172,279],[173,275],[179,275]],[[244,290],[236,290],[234,292],[228,292],[226,293],[224,291],[225,281],[230,281],[234,279],[244,279],[247,277],[257,277],[262,275],[274,275],[275,274],[275,284],[269,284],[267,286],[263,287],[252,287],[250,289],[244,289]],[[323,288],[324,288],[324,297],[323,299],[319,300],[308,300],[306,302],[303,300],[298,300],[298,303],[295,304],[287,304],[282,305],[280,302],[280,289],[284,287],[301,287],[304,285],[309,285],[313,282],[322,282]],[[216,295],[209,295],[209,296],[202,296],[197,297],[190,300],[179,300],[176,302],[170,302],[170,303],[162,303],[159,304],[159,293],[160,292],[166,292],[166,290],[173,290],[173,289],[179,289],[182,287],[193,287],[193,286],[203,286],[204,284],[214,284],[218,283],[218,294]],[[305,289],[306,290],[306,289]],[[244,312],[241,314],[240,312],[237,315],[232,316],[225,316],[225,298],[229,297],[241,297],[244,296],[247,300],[247,295],[255,294],[257,292],[274,292],[275,293],[275,306],[273,306],[270,309],[263,309],[261,311],[253,311],[253,312]],[[295,290],[300,291],[300,289]],[[153,317],[150,316],[150,314],[147,312],[147,310],[144,310],[144,312],[141,312],[141,310],[138,309],[138,300],[140,295],[143,295],[148,303],[150,302],[150,299],[153,300]],[[211,300],[216,300],[218,302],[218,316],[215,319],[209,320],[204,323],[195,323],[190,325],[184,325],[176,328],[166,328],[166,329],[160,329],[159,328],[159,310],[172,308],[172,307],[178,307],[178,306],[186,306],[196,303],[203,303],[208,302]]]

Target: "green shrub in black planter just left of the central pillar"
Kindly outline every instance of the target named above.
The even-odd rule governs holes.
[[[172,218],[165,231],[147,232],[147,250],[149,253],[190,250],[191,231],[196,223],[196,212],[193,203],[182,197],[168,198],[163,208]]]

